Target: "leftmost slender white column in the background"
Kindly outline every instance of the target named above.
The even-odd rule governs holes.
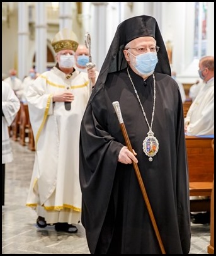
[[[25,2],[18,2],[18,77],[23,79],[28,75],[30,58],[28,34],[28,5]]]

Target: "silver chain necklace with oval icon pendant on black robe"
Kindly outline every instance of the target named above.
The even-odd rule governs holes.
[[[127,67],[127,74],[128,74],[128,77],[130,78],[130,81],[132,83],[132,86],[134,87],[134,91],[135,91],[135,94],[137,95],[137,100],[138,102],[140,103],[140,107],[142,108],[142,113],[145,117],[145,121],[149,127],[149,132],[147,132],[147,137],[145,137],[143,143],[142,143],[142,149],[144,151],[144,153],[149,156],[149,161],[152,161],[153,160],[153,156],[155,156],[157,154],[157,151],[159,149],[159,143],[156,139],[156,137],[154,137],[154,132],[152,132],[152,124],[153,124],[153,121],[154,121],[154,110],[155,110],[155,107],[156,107],[156,79],[154,77],[154,74],[152,74],[153,76],[153,80],[154,80],[154,96],[153,96],[153,110],[152,110],[152,120],[151,120],[151,125],[149,125],[149,122],[147,120],[147,117],[145,115],[145,111],[144,111],[144,108],[142,107],[142,103],[140,102],[140,97],[137,93],[137,90],[134,86],[134,83],[132,81],[132,78],[130,76],[130,73],[128,71],[128,67]]]

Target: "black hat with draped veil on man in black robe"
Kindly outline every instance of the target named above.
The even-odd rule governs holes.
[[[168,53],[156,19],[146,15],[135,16],[122,21],[122,23],[118,25],[117,32],[115,33],[110,49],[101,67],[95,86],[96,90],[93,90],[94,93],[103,86],[108,73],[120,71],[127,67],[128,64],[125,60],[123,49],[125,49],[125,45],[127,45],[128,42],[137,37],[154,37],[156,39],[157,46],[160,48],[157,52],[158,62],[155,71],[171,76]]]

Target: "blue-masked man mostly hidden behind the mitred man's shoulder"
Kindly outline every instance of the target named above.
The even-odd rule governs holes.
[[[75,53],[76,69],[82,72],[88,73],[89,80],[91,79],[92,86],[96,83],[99,72],[96,71],[95,67],[88,69],[86,64],[89,63],[89,49],[86,45],[78,45]]]

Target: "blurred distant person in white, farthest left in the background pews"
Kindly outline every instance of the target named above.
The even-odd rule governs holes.
[[[23,83],[21,79],[16,76],[16,69],[11,69],[9,71],[9,77],[4,79],[4,82],[11,86],[15,95],[21,100],[21,96],[23,95]]]

